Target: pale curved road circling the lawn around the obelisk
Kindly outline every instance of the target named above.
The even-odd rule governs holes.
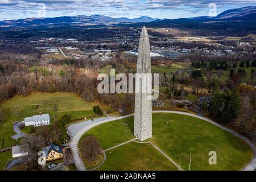
[[[220,123],[214,122],[211,119],[199,116],[199,115],[195,115],[195,114],[191,114],[191,113],[185,113],[185,112],[181,112],[181,111],[168,111],[168,110],[157,110],[157,111],[152,111],[152,113],[172,113],[172,114],[182,114],[182,115],[189,115],[191,117],[195,117],[195,118],[199,118],[199,119],[203,119],[204,121],[207,121],[209,123],[212,123],[213,125],[216,125],[218,127],[220,127],[221,129],[228,131],[229,133],[235,135],[236,137],[244,140],[247,144],[249,144],[249,146],[251,147],[251,150],[254,152],[254,157],[253,159],[250,161],[249,164],[247,164],[247,166],[245,168],[243,168],[243,170],[245,171],[253,171],[254,169],[256,169],[256,147],[254,146],[253,143],[250,142],[249,139],[247,139],[246,137],[244,137],[241,134],[238,134],[236,131],[230,130],[227,127],[220,125]],[[131,117],[134,114],[130,114],[130,115],[124,115],[121,117],[114,117],[114,118],[109,118],[109,119],[105,119],[103,121],[98,121],[98,122],[94,122],[94,123],[90,123],[88,126],[85,126],[84,128],[82,128],[79,133],[77,133],[71,140],[71,149],[73,152],[73,158],[74,158],[74,162],[76,164],[77,170],[79,171],[85,171],[85,167],[84,167],[84,163],[82,162],[80,155],[79,155],[79,151],[78,151],[78,143],[80,138],[82,137],[82,135],[84,135],[84,133],[86,133],[86,131],[92,129],[93,127],[97,126],[97,125],[101,125],[102,123],[106,123],[106,122],[110,122],[110,121],[116,121],[118,119],[123,119],[123,118],[127,118],[127,117]]]

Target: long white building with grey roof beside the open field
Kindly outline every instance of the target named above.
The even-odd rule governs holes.
[[[49,114],[33,115],[24,119],[25,126],[44,126],[50,124]]]

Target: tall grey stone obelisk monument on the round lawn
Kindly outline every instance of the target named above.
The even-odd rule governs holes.
[[[152,137],[152,80],[143,76],[146,75],[144,73],[151,73],[150,41],[146,27],[142,28],[139,39],[137,76],[135,78],[134,136],[141,141]],[[143,89],[150,90],[150,92],[142,92]]]

